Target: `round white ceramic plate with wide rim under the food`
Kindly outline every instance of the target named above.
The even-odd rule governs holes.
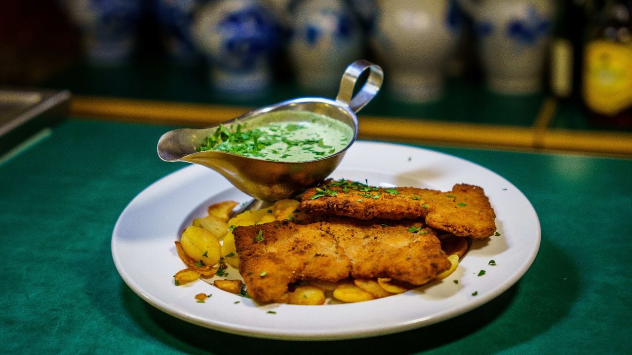
[[[497,214],[500,236],[475,241],[458,269],[441,282],[362,303],[259,306],[202,281],[176,287],[173,275],[184,268],[173,243],[180,232],[210,203],[248,200],[221,175],[190,165],[150,185],[125,208],[112,234],[116,268],[138,296],[187,322],[253,337],[331,340],[401,332],[461,315],[506,291],[537,254],[540,222],[531,203],[509,181],[467,160],[358,141],[332,177],[442,191],[457,183],[481,186]],[[480,270],[485,275],[478,276]],[[197,303],[198,293],[212,297]]]

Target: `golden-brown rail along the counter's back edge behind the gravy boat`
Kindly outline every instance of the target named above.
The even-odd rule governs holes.
[[[75,117],[176,126],[211,126],[250,109],[252,107],[93,96],[75,96],[70,104],[71,116]],[[632,157],[632,133],[550,128],[556,109],[555,100],[545,100],[534,124],[528,127],[360,115],[359,137],[413,144]]]

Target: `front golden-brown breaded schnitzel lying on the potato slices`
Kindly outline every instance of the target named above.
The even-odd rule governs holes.
[[[390,277],[423,285],[451,265],[434,230],[419,221],[283,220],[235,227],[233,235],[248,294],[260,302],[281,300],[299,280]]]

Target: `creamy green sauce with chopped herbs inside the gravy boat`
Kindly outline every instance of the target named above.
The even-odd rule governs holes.
[[[275,111],[246,123],[221,124],[198,151],[216,150],[255,159],[303,162],[337,153],[352,138],[353,128],[331,117],[310,111]]]

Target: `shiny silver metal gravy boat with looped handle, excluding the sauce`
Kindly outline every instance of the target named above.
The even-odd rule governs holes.
[[[367,81],[353,96],[353,88],[360,75],[370,70]],[[324,180],[336,169],[358,135],[360,111],[377,94],[384,73],[382,68],[365,60],[355,61],[344,71],[336,100],[322,97],[302,97],[255,109],[224,123],[243,123],[260,114],[272,111],[312,111],[332,117],[353,128],[353,138],[341,151],[316,160],[305,162],[273,162],[254,159],[233,153],[197,148],[213,135],[219,126],[202,129],[174,129],[162,135],[158,141],[158,155],[166,162],[190,162],[204,165],[222,174],[236,188],[257,200],[277,201],[295,196]]]

